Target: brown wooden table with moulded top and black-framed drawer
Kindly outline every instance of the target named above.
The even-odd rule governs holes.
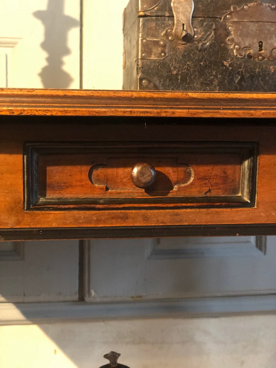
[[[275,97],[1,90],[1,240],[276,234]]]

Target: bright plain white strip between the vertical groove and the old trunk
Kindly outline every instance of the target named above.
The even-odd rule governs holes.
[[[83,88],[122,89],[123,11],[129,0],[83,0]]]

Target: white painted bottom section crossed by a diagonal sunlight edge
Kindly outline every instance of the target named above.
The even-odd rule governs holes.
[[[5,326],[0,342],[5,368],[98,368],[110,350],[130,368],[273,368],[276,316]]]

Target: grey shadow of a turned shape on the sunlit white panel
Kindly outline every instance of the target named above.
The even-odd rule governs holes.
[[[39,73],[43,86],[69,88],[73,78],[63,70],[62,59],[71,54],[67,46],[67,35],[70,29],[79,26],[79,21],[64,14],[64,0],[48,0],[47,9],[35,11],[33,16],[45,27],[45,39],[40,46],[48,53],[48,65]]]

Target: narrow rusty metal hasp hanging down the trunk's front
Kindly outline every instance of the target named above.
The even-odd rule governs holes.
[[[179,43],[188,43],[194,36],[194,0],[171,0],[171,8],[174,16],[173,36]]]

